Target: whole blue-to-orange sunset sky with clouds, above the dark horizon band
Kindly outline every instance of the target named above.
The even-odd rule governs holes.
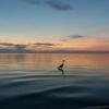
[[[109,0],[0,0],[0,49],[109,51]]]

